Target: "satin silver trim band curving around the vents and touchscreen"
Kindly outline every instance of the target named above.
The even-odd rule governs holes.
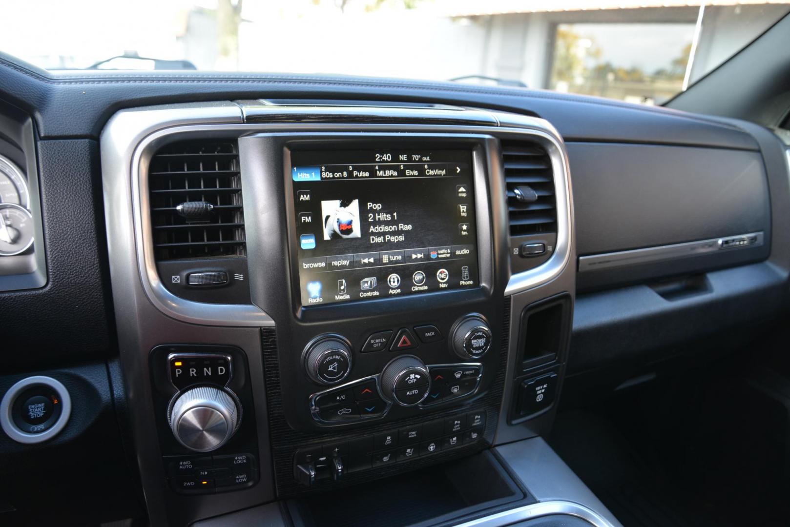
[[[570,168],[562,137],[544,119],[525,115],[487,112],[481,110],[457,110],[431,108],[403,109],[382,107],[360,111],[355,108],[347,114],[364,121],[371,115],[407,114],[419,124],[387,124],[377,119],[366,122],[326,122],[337,115],[339,108],[333,107],[256,107],[256,117],[271,118],[269,122],[243,124],[243,110],[230,102],[206,104],[173,104],[161,107],[142,107],[119,111],[113,116],[101,135],[102,178],[107,222],[107,243],[113,268],[125,268],[134,264],[130,254],[137,255],[137,266],[141,284],[151,303],[164,314],[182,322],[209,326],[273,326],[268,314],[255,305],[209,304],[182,299],[164,288],[156,272],[153,243],[150,233],[149,196],[147,169],[150,157],[164,137],[173,134],[238,134],[284,133],[294,131],[330,132],[399,132],[399,133],[482,133],[496,137],[525,137],[538,141],[547,150],[551,159],[555,182],[557,209],[557,241],[551,257],[534,269],[510,276],[505,295],[512,295],[536,288],[558,277],[566,269],[573,247],[573,204],[570,199]],[[468,112],[474,119],[489,115],[491,124],[443,124],[446,120],[458,120],[461,112]],[[357,115],[358,114],[358,115]],[[279,122],[277,117],[288,116],[288,122]],[[442,124],[434,124],[440,122]],[[502,179],[501,160],[488,160],[489,168]],[[130,185],[128,184],[130,182]],[[501,182],[504,188],[504,180]],[[497,192],[490,199],[506,200]],[[502,195],[497,195],[502,194]],[[506,206],[505,206],[506,210]]]

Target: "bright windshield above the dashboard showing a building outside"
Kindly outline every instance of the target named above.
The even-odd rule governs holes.
[[[48,70],[340,73],[663,104],[790,10],[705,3],[26,0],[2,8],[0,51]]]

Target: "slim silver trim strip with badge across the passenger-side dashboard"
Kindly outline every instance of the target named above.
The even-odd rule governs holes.
[[[724,247],[724,243],[728,241],[750,238],[754,238],[754,242],[746,245]],[[581,256],[579,257],[579,273],[597,271],[599,269],[614,269],[625,265],[662,262],[664,260],[674,260],[675,258],[701,256],[702,254],[715,253],[718,250],[729,251],[747,247],[760,247],[762,246],[763,238],[762,231],[750,232],[742,235],[725,236],[724,238],[703,239],[699,242],[672,243],[645,249],[619,250],[613,253]]]

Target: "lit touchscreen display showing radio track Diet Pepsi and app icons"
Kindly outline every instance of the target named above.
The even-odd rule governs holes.
[[[291,152],[302,305],[475,287],[472,153]]]

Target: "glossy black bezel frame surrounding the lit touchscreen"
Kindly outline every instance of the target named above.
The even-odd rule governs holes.
[[[323,137],[320,137],[323,136]],[[318,138],[320,137],[320,138]],[[283,144],[283,168],[285,209],[288,215],[288,254],[291,269],[292,301],[297,318],[323,318],[337,314],[338,309],[356,311],[358,307],[378,309],[374,306],[392,307],[393,310],[408,310],[424,307],[441,299],[441,302],[477,300],[491,296],[493,277],[493,243],[491,236],[491,204],[489,202],[487,157],[491,148],[487,141],[493,137],[477,134],[310,134],[309,137],[289,137]],[[386,296],[374,299],[351,299],[337,303],[303,305],[299,273],[299,235],[295,213],[295,188],[292,179],[292,152],[307,151],[383,151],[414,149],[463,150],[472,160],[474,209],[476,216],[476,254],[478,284],[467,288],[444,291],[420,292],[410,295]],[[360,312],[363,312],[360,310]]]

